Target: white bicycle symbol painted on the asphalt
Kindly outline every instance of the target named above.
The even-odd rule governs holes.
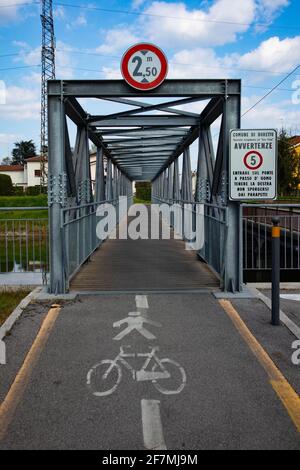
[[[131,346],[125,347],[130,348]],[[182,392],[186,385],[186,373],[180,364],[168,358],[159,359],[156,354],[159,351],[158,347],[150,347],[150,352],[137,354],[125,352],[125,347],[120,347],[120,352],[114,360],[104,359],[88,372],[87,385],[93,395],[105,397],[115,392],[122,380],[121,365],[131,372],[133,380],[137,382],[151,381],[154,387],[165,395]],[[135,370],[129,364],[127,359],[132,358],[145,358],[141,369]],[[150,366],[151,362],[152,367]],[[151,370],[149,370],[150,367]],[[166,383],[168,379],[172,382],[169,387]]]

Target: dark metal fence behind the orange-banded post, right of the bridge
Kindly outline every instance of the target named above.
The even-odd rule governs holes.
[[[274,216],[279,218],[281,227],[280,268],[282,271],[300,270],[300,205],[243,204],[245,272],[271,270],[271,228]]]

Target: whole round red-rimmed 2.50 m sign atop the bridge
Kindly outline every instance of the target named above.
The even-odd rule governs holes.
[[[168,61],[153,44],[141,43],[130,47],[121,62],[124,80],[138,90],[153,90],[166,78]]]

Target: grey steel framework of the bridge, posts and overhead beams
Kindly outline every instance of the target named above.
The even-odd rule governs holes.
[[[81,98],[116,102],[127,109],[90,115]],[[200,114],[186,110],[197,101],[204,102]],[[229,131],[240,128],[240,109],[240,80],[166,80],[150,92],[134,90],[123,80],[49,81],[50,291],[66,292],[72,276],[101,243],[96,237],[97,207],[108,201],[117,205],[119,195],[131,203],[132,182],[138,180],[152,182],[153,201],[203,205],[207,224],[200,255],[218,273],[225,291],[241,291],[240,204],[228,197]],[[214,152],[211,126],[218,118]],[[67,119],[77,128],[74,148]],[[190,146],[197,139],[193,194]],[[94,191],[89,141],[97,147]]]

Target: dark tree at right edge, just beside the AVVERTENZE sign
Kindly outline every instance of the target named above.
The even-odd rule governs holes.
[[[299,184],[299,157],[291,147],[290,136],[282,129],[278,137],[278,191],[280,196],[289,196]]]

